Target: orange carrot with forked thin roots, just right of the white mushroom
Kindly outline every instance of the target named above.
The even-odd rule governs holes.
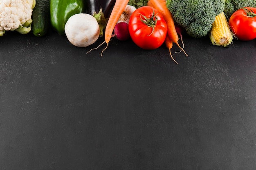
[[[108,43],[110,42],[110,39],[112,38],[112,33],[114,31],[115,25],[117,24],[118,19],[120,18],[121,14],[124,12],[124,9],[126,8],[126,5],[128,4],[129,0],[116,0],[115,5],[110,13],[110,17],[108,18],[108,23],[106,25],[106,29],[105,29],[105,41],[103,43],[101,43],[97,48],[98,49],[102,44],[104,44],[106,42],[107,46],[105,47],[105,49],[108,48]],[[91,49],[95,50],[95,49]],[[101,51],[101,56],[103,54],[103,51],[105,50],[103,49]],[[88,51],[87,53],[89,53],[90,51]]]

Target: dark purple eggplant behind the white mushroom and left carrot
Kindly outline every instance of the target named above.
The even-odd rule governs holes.
[[[87,13],[93,15],[102,8],[105,18],[109,18],[110,13],[115,5],[116,0],[86,0]]]

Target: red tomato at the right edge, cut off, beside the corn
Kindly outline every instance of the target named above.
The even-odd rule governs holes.
[[[238,9],[229,18],[229,26],[238,40],[256,38],[256,8]]]

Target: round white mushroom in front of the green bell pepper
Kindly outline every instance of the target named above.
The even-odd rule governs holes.
[[[90,14],[77,13],[72,15],[65,24],[65,34],[71,44],[86,47],[99,38],[99,24]]]

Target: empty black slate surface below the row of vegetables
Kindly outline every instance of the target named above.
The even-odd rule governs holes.
[[[0,37],[0,170],[255,170],[256,41],[146,51]]]

